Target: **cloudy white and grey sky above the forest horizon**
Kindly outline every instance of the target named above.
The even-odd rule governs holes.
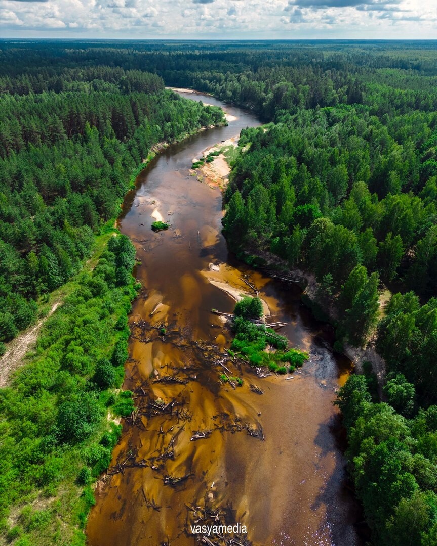
[[[437,39],[437,0],[0,0],[0,38]]]

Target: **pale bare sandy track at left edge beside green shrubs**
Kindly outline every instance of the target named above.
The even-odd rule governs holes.
[[[35,325],[22,332],[14,340],[8,343],[8,348],[3,357],[0,358],[0,387],[6,387],[9,383],[11,372],[18,369],[23,363],[24,355],[36,343],[39,331],[46,321],[59,307],[60,302],[56,301],[51,307],[47,316],[40,319]]]

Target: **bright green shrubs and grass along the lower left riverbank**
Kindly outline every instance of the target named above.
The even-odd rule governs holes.
[[[150,152],[133,171],[131,189],[154,157]],[[0,389],[0,544],[85,544],[83,529],[95,504],[92,485],[110,464],[121,434],[114,416],[133,410],[131,391],[116,387],[123,382],[126,318],[136,295],[130,273],[135,252],[130,243],[119,254],[108,251],[114,235],[121,239],[113,224],[96,236],[81,271],[40,298],[40,317],[55,302],[63,304],[43,325],[11,387]],[[101,359],[115,370],[114,384],[105,390],[92,381]],[[62,413],[69,403],[75,411]],[[84,417],[87,406],[92,411]],[[73,433],[81,429],[79,441],[65,436],[66,425]]]

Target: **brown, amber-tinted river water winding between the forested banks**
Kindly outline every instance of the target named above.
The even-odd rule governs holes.
[[[92,546],[200,544],[190,525],[204,523],[246,525],[257,546],[360,544],[332,405],[350,363],[333,354],[329,330],[301,305],[297,287],[228,254],[218,189],[188,176],[203,149],[259,124],[226,110],[237,120],[168,148],[126,199],[120,228],[137,248],[145,287],[130,316],[124,383],[137,412],[125,420],[110,475],[98,484],[87,527]],[[171,228],[155,234],[150,224],[160,217]],[[288,322],[281,333],[311,354],[293,379],[259,378],[226,357],[230,333],[211,309],[232,311],[235,301],[222,288],[246,293],[243,276],[270,314]],[[242,387],[220,382],[219,361]],[[198,432],[207,437],[191,440]]]

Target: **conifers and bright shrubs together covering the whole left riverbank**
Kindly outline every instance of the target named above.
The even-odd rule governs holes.
[[[119,387],[141,286],[121,201],[153,145],[224,123],[140,70],[59,66],[51,85],[52,53],[0,54],[0,356],[60,304],[0,390],[0,541],[19,546],[85,542],[90,484],[133,409]]]

